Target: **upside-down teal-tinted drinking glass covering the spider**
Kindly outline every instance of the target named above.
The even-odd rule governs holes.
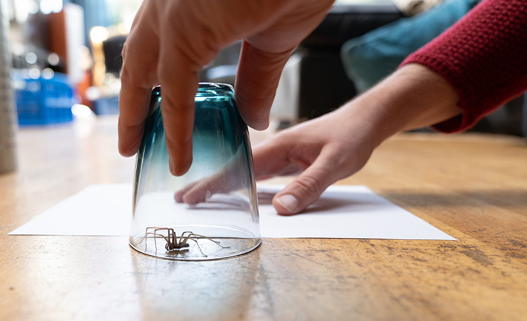
[[[252,153],[232,87],[200,84],[192,166],[180,177],[169,171],[161,101],[156,87],[135,166],[130,245],[179,260],[255,249],[261,238]]]

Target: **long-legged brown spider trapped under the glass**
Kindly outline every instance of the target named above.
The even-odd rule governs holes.
[[[149,229],[150,230],[153,229],[154,232],[148,232]],[[167,231],[167,236],[164,236],[163,234],[158,233],[158,231],[163,231],[163,230]],[[203,253],[203,251],[201,250],[201,247],[199,246],[198,240],[196,239],[198,237],[209,239],[212,242],[216,243],[221,248],[229,248],[228,246],[222,246],[220,242],[215,241],[210,237],[195,234],[192,232],[181,233],[181,236],[179,237],[179,242],[178,242],[177,234],[175,234],[174,229],[170,227],[147,227],[144,232],[144,237],[141,239],[139,243],[143,242],[143,239],[146,239],[149,234],[154,236],[155,254],[158,254],[158,245],[157,245],[156,240],[159,236],[162,237],[167,242],[167,244],[165,244],[165,249],[167,250],[169,254],[172,254],[174,252],[180,252],[183,250],[188,250],[187,247],[189,247],[190,245],[187,243],[187,241],[193,240],[198,245],[199,252],[201,252],[203,256],[207,257],[207,255]],[[145,250],[146,249],[147,249],[147,245],[145,244]]]

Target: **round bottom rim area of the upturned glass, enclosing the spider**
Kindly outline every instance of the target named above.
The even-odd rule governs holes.
[[[246,229],[218,225],[148,227],[130,237],[130,246],[143,254],[173,260],[211,260],[245,254],[261,238]]]

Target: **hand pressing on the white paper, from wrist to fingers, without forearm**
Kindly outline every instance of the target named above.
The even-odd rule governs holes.
[[[378,142],[363,117],[344,109],[285,129],[253,149],[256,179],[298,175],[278,192],[278,214],[297,214],[366,164]],[[349,114],[349,115],[347,115]]]

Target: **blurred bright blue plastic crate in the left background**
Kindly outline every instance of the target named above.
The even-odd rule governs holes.
[[[46,125],[73,120],[71,107],[77,99],[65,74],[55,73],[50,79],[32,79],[22,73],[13,73],[12,78],[19,125]]]

